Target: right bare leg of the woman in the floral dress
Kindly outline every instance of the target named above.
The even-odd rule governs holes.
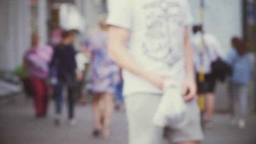
[[[106,93],[102,96],[104,99],[104,117],[103,117],[103,135],[105,138],[109,136],[109,126],[114,110],[114,95],[111,93]]]

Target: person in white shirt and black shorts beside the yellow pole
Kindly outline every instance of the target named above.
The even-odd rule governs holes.
[[[212,74],[211,64],[218,58],[223,59],[224,54],[217,38],[209,33],[203,32],[201,25],[193,27],[192,47],[194,49],[195,72],[197,75],[197,93],[206,95],[205,127],[212,127],[212,115],[215,104],[216,80]],[[203,50],[202,50],[202,46]],[[199,73],[202,72],[205,80],[199,80]]]

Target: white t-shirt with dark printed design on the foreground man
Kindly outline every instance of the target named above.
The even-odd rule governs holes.
[[[182,83],[184,28],[192,22],[187,0],[109,0],[107,23],[130,30],[129,52],[150,72]],[[124,95],[162,93],[151,83],[123,70]]]

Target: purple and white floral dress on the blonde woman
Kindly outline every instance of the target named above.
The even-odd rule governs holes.
[[[107,54],[108,35],[105,32],[94,32],[85,40],[86,50],[92,55],[91,59],[91,92],[115,94],[120,82],[120,68]]]

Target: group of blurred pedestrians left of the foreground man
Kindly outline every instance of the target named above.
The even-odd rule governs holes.
[[[41,45],[32,35],[24,62],[16,69],[24,91],[34,100],[35,117],[47,116],[48,101],[55,101],[54,125],[61,125],[62,105],[68,102],[68,121],[76,124],[75,104],[91,102],[95,120],[93,136],[109,135],[114,107],[124,110],[121,69],[107,53],[107,16],[99,17],[100,28],[88,31],[79,51],[74,47],[76,30],[58,29],[59,43]]]

